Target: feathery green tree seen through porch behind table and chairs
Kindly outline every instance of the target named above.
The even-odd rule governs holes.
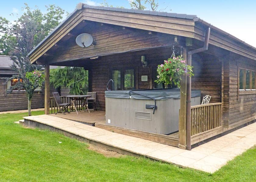
[[[57,89],[67,87],[74,95],[88,91],[88,71],[80,67],[65,67],[50,70],[50,83]]]

